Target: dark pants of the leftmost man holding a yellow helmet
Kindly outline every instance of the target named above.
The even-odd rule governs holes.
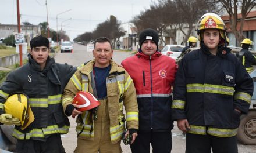
[[[62,145],[61,136],[53,134],[49,136],[46,141],[40,140],[19,140],[15,148],[16,153],[65,153]]]

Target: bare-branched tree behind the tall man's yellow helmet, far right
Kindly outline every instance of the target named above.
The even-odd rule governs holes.
[[[219,0],[222,3],[224,8],[226,9],[227,13],[229,14],[229,23],[230,28],[234,36],[236,37],[236,41],[240,44],[243,41],[243,27],[244,27],[244,20],[248,13],[253,9],[256,5],[256,0]],[[238,12],[239,8],[241,8],[241,20],[239,23]]]

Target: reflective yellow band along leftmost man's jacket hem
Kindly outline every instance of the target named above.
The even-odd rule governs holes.
[[[62,128],[59,128],[58,125],[50,125],[47,126],[47,128],[42,128],[42,129],[32,129],[30,130],[29,133],[26,133],[26,140],[30,139],[31,137],[45,137],[45,135],[48,134],[55,134],[55,133],[59,133],[59,134],[66,134],[67,132],[69,132],[69,126],[63,126]],[[25,134],[20,132],[17,129],[13,130],[13,137],[16,137],[17,139],[25,139]]]

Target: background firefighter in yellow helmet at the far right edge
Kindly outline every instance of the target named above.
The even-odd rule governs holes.
[[[253,45],[253,41],[246,38],[243,39],[241,42],[241,51],[239,52],[239,61],[243,63],[244,67],[246,68],[247,72],[250,74],[253,71],[253,66],[251,65],[256,64],[256,58],[253,54],[248,50],[249,46]]]

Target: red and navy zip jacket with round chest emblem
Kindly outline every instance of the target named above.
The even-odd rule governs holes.
[[[155,52],[128,57],[122,65],[133,79],[138,101],[140,132],[166,132],[173,128],[172,89],[177,66],[175,60]]]

